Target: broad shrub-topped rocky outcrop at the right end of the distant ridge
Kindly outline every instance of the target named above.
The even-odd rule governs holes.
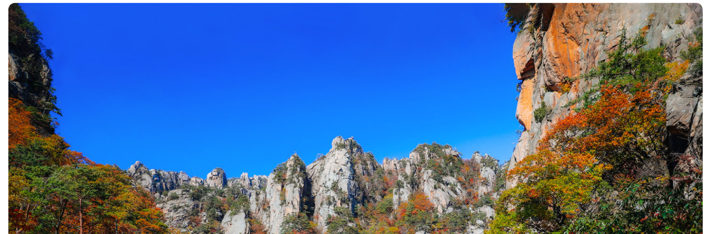
[[[447,165],[447,161],[461,161],[464,165]],[[444,168],[432,166],[437,164],[444,165]],[[466,176],[471,175],[467,175],[464,171],[448,170],[448,166],[454,169],[470,168],[478,171],[479,173],[475,175],[478,185],[467,184]],[[415,191],[421,191],[437,209],[437,213],[450,213],[461,206],[454,201],[466,201],[474,197],[482,200],[485,196],[497,198],[503,189],[504,174],[499,173],[502,168],[498,165],[498,160],[488,154],[481,156],[478,151],[472,154],[471,159],[464,160],[461,159],[459,152],[449,145],[420,144],[410,152],[408,158],[383,160],[383,169],[389,174],[397,175],[398,182],[392,191],[394,207],[407,202]],[[497,181],[501,181],[501,184],[496,184]],[[466,233],[483,233],[488,218],[494,215],[491,205],[491,203],[473,203],[466,206],[472,213],[482,213],[485,217],[471,220]]]

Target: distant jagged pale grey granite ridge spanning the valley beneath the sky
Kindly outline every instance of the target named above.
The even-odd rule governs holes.
[[[461,159],[453,147],[440,144],[420,144],[408,158],[379,164],[355,139],[336,137],[328,154],[312,164],[306,166],[294,154],[269,176],[242,174],[228,179],[218,168],[201,179],[182,171],[148,169],[140,162],[130,166],[127,174],[154,193],[168,225],[189,233],[276,234],[292,225],[284,224],[285,220],[298,217],[313,223],[312,231],[328,233],[329,225],[344,211],[360,220],[344,218],[343,227],[363,227],[371,225],[362,214],[368,207],[392,201],[390,209],[395,210],[415,193],[427,196],[432,212],[439,215],[462,208],[481,214],[464,223],[466,230],[461,233],[482,233],[493,216],[493,204],[475,201],[498,197],[503,188],[501,171],[491,156],[476,152],[471,159]]]

